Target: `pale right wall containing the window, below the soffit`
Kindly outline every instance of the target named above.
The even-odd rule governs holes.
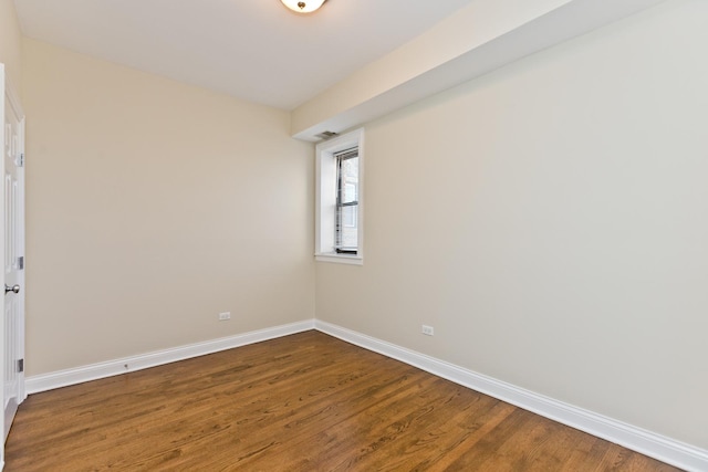
[[[706,24],[668,1],[368,124],[317,318],[708,448]]]

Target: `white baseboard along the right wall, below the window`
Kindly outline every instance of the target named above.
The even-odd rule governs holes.
[[[315,329],[347,343],[418,367],[472,390],[533,411],[677,468],[708,471],[708,451],[595,412],[534,394],[462,367],[396,346],[330,323],[315,321]]]

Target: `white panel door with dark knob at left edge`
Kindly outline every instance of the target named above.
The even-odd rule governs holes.
[[[4,442],[18,406],[24,400],[24,116],[7,82],[3,88]]]

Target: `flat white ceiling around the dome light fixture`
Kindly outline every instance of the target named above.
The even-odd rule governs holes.
[[[14,0],[22,32],[92,56],[293,109],[475,0]]]

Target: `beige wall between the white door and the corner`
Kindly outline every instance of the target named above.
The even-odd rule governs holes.
[[[28,375],[314,317],[313,146],[288,113],[23,51]]]

